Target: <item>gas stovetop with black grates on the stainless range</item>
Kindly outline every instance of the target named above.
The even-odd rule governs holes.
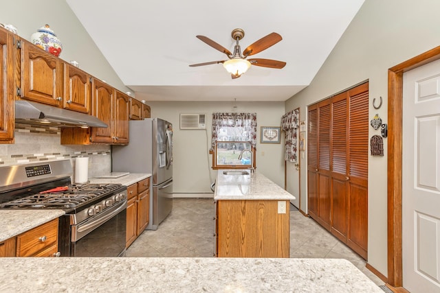
[[[30,194],[0,204],[0,209],[72,209],[122,189],[120,184],[76,184],[63,191]]]

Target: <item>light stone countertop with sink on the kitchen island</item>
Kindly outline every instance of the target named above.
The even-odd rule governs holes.
[[[276,185],[263,174],[246,169],[219,170],[215,182],[214,200],[294,200],[295,196]],[[231,172],[226,175],[224,172]]]

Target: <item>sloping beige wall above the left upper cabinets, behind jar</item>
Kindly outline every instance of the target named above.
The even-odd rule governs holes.
[[[105,80],[122,92],[131,91],[124,86],[64,0],[2,1],[0,23],[17,27],[18,35],[25,40],[30,40],[30,36],[40,27],[50,25],[63,43],[61,59],[67,62],[76,60],[80,69],[87,73]]]

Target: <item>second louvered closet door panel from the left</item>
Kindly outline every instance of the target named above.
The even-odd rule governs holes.
[[[330,129],[331,104],[327,99],[318,104],[318,198],[319,221],[322,226],[330,229],[331,198],[330,198]]]

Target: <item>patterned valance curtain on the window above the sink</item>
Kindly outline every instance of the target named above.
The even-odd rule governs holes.
[[[217,141],[249,141],[256,147],[256,113],[212,113],[212,144]]]

